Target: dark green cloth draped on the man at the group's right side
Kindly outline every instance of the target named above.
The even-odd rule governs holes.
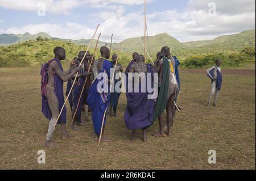
[[[154,121],[163,113],[167,104],[167,94],[169,90],[170,64],[166,57],[163,58],[162,81],[160,90],[158,91],[158,99],[156,100],[154,110]]]

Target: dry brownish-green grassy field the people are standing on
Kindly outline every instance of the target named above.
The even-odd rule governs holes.
[[[218,107],[206,108],[209,78],[204,71],[181,70],[183,111],[176,114],[171,137],[152,137],[155,123],[147,143],[141,131],[130,141],[122,94],[118,117],[108,117],[110,142],[99,147],[86,122],[78,132],[68,126],[75,136],[69,140],[61,140],[57,126],[53,138],[59,145],[45,148],[49,121],[41,112],[39,69],[0,69],[0,169],[255,169],[255,70],[246,71],[224,71]],[[38,164],[38,150],[46,151],[46,164]],[[216,150],[216,164],[208,163],[209,150]]]

